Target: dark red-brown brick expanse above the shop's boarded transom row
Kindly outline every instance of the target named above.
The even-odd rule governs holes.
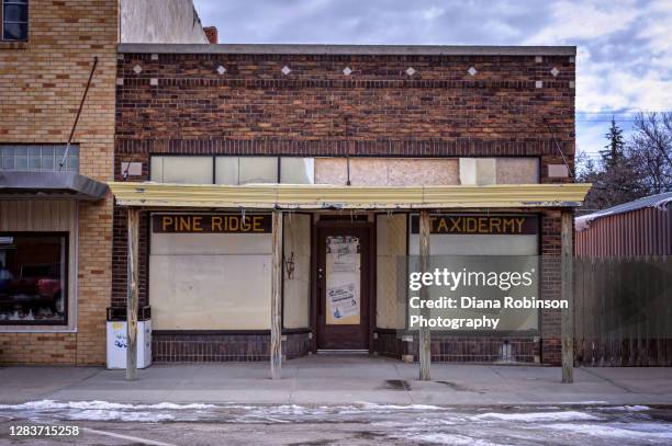
[[[548,140],[549,122],[573,152],[574,65],[568,57],[546,59],[169,54],[159,62],[147,54],[125,54],[119,61],[124,84],[117,90],[117,135],[338,139],[348,117],[351,140]],[[410,78],[411,61],[416,72]],[[347,78],[344,64],[355,69]],[[133,71],[136,65],[142,72]],[[479,67],[478,80],[467,72],[472,65]],[[219,66],[226,76],[216,73]],[[553,66],[562,68],[558,77],[549,72]],[[283,67],[291,72],[282,75]],[[148,88],[152,78],[159,80],[158,90]],[[545,80],[542,89],[535,88],[538,79]]]

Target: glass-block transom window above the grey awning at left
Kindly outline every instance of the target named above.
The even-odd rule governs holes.
[[[78,172],[79,146],[66,155],[66,145],[0,145],[0,170]]]

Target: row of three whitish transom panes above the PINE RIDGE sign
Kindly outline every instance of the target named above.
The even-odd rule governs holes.
[[[191,184],[313,184],[313,158],[153,156],[152,181]]]

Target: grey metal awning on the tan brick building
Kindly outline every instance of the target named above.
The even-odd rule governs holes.
[[[0,171],[0,199],[101,199],[108,185],[75,172]]]

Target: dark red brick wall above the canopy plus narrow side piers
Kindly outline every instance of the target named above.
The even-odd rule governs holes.
[[[542,183],[569,182],[547,172],[562,163],[558,146],[573,168],[574,68],[570,56],[126,53],[117,65],[115,179],[121,162],[139,161],[143,174],[130,180],[147,180],[152,153],[526,156],[540,158]],[[541,296],[559,297],[560,213],[540,211]],[[119,210],[120,262],[124,225]],[[125,274],[115,266],[114,305],[124,305]],[[557,363],[559,313],[544,312],[541,323],[542,361]]]

